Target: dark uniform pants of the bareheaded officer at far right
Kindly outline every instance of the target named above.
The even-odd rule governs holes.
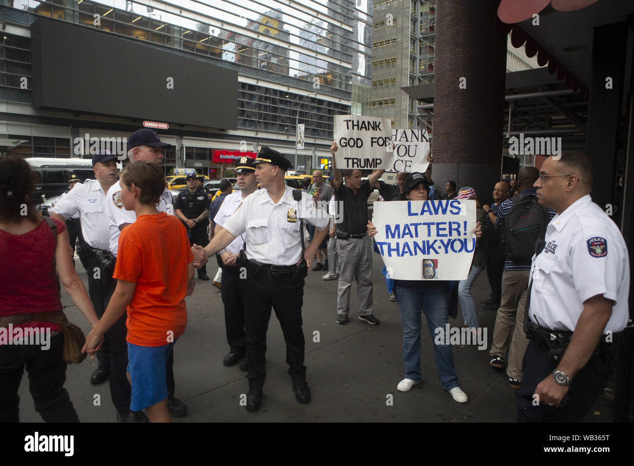
[[[614,361],[602,361],[597,352],[573,378],[559,408],[554,405],[533,406],[533,394],[538,384],[552,377],[559,364],[530,340],[524,353],[522,386],[517,396],[517,422],[581,422],[605,388],[614,369]]]

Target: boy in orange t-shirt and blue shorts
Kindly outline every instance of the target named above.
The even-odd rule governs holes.
[[[171,422],[165,363],[187,323],[185,296],[193,292],[193,256],[183,224],[156,208],[165,189],[160,165],[128,165],[120,181],[121,200],[126,210],[136,212],[136,222],[121,231],[113,274],[117,288],[84,348],[93,353],[127,307],[130,409],[145,409],[150,422]]]

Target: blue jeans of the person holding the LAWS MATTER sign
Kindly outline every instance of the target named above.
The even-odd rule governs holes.
[[[448,323],[449,288],[446,282],[420,282],[417,288],[404,287],[399,280],[394,282],[394,295],[403,320],[403,359],[405,377],[411,380],[422,379],[420,371],[420,332],[421,309],[427,319],[429,335],[434,345],[436,369],[443,389],[451,390],[458,386],[458,375],[453,364],[453,353],[450,344],[437,345],[436,328]]]

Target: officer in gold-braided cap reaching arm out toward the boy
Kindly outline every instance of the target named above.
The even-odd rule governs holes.
[[[242,207],[222,227],[204,249],[193,246],[194,265],[227,247],[245,233],[246,261],[238,266],[247,275],[244,295],[247,354],[249,354],[249,392],[247,411],[257,411],[266,379],[266,330],[271,307],[280,321],[287,347],[288,374],[293,382],[295,399],[310,401],[304,366],[304,332],[302,332],[302,298],[304,277],[310,269],[316,247],[328,233],[328,214],[314,205],[301,190],[284,183],[285,172],[292,167],[279,152],[263,147],[255,160],[256,178],[261,190],[245,198]],[[313,242],[302,257],[304,221],[316,226]],[[307,262],[307,263],[306,263]]]

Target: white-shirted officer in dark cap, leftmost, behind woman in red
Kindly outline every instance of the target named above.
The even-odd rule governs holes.
[[[101,273],[97,254],[110,247],[105,205],[108,188],[117,181],[117,157],[107,150],[100,151],[93,156],[93,170],[96,179],[77,183],[72,190],[58,200],[53,207],[51,217],[65,221],[79,214],[82,235],[88,249],[86,260],[88,294],[97,317],[101,318],[107,307],[111,283]],[[97,359],[98,368],[90,379],[95,385],[105,382],[110,373],[110,339],[104,339],[97,353]]]

